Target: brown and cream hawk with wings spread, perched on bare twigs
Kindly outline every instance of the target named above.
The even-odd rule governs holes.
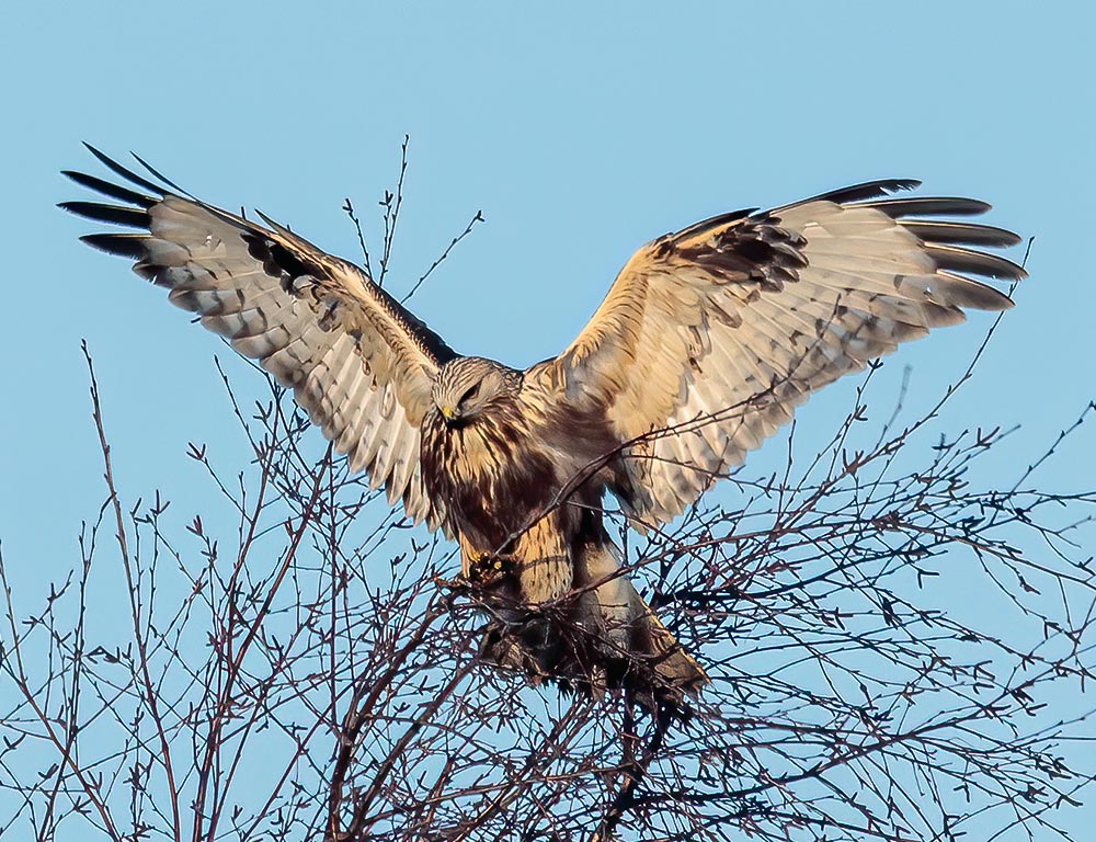
[[[1018,241],[966,220],[985,203],[874,181],[648,242],[559,356],[518,371],[458,354],[364,270],[267,217],[91,151],[128,184],[67,171],[115,203],[62,207],[136,230],[82,239],[258,360],[353,470],[459,543],[501,617],[488,659],[649,706],[708,679],[624,574],[603,498],[641,532],[672,520],[815,389],[964,309],[1012,305],[971,275],[1025,274],[980,250]]]

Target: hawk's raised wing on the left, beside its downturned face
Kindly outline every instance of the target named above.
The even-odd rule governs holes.
[[[197,314],[203,326],[292,388],[373,488],[385,486],[390,502],[402,498],[408,516],[437,526],[444,512],[423,488],[419,430],[434,377],[455,356],[452,349],[357,266],[265,217],[270,227],[91,151],[132,186],[66,172],[121,204],[61,207],[138,230],[82,239],[136,261],[137,274],[167,287],[172,304]]]

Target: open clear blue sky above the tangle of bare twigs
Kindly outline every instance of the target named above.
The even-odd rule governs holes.
[[[129,494],[170,483],[197,497],[186,442],[240,445],[212,364],[224,346],[81,246],[89,225],[54,207],[81,197],[60,169],[98,171],[81,140],[136,150],[210,202],[259,207],[357,258],[342,201],[376,243],[373,208],[409,134],[390,283],[406,289],[482,209],[415,309],[457,350],[513,365],[562,349],[644,240],[721,210],[920,178],[992,202],[989,221],[1036,238],[1031,277],[941,429],[1021,424],[1009,453],[1024,462],[1096,396],[1091,4],[305,9],[0,12],[0,542],[23,593],[75,562],[79,523],[102,500],[81,339]],[[927,400],[987,325],[903,350],[891,376],[912,365],[911,397]],[[832,423],[848,394],[812,400],[804,425]],[[1091,487],[1094,453],[1089,430],[1044,485]]]

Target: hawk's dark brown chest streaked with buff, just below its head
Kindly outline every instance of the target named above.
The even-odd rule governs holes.
[[[501,549],[549,508],[561,487],[559,466],[511,402],[447,425],[431,410],[423,421],[422,477],[453,526],[477,549]]]

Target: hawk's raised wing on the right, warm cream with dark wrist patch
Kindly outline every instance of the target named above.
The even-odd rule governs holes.
[[[948,218],[981,202],[884,197],[917,184],[860,184],[661,237],[543,364],[557,406],[604,412],[624,445],[610,488],[635,525],[682,512],[815,389],[962,321],[962,308],[1012,305],[967,275],[1024,270],[968,247],[1019,238]]]

